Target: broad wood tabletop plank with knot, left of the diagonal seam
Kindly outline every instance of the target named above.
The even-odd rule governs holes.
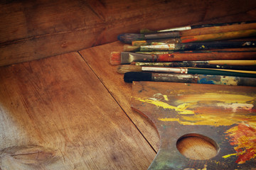
[[[76,52],[1,67],[0,118],[2,170],[146,169],[156,155]]]

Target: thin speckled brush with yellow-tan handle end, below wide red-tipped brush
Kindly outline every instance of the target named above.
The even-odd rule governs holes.
[[[208,61],[182,61],[182,62],[133,62],[132,64],[139,66],[160,66],[174,67],[178,63],[184,64],[210,64],[210,65],[230,65],[230,66],[252,66],[256,67],[256,60],[208,60]]]

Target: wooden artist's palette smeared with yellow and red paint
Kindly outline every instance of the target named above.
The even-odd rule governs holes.
[[[160,135],[160,148],[149,169],[256,169],[256,88],[135,81],[132,103]],[[190,159],[176,143],[203,137],[217,154]]]

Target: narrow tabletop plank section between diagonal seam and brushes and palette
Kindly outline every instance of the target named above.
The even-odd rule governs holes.
[[[97,74],[102,84],[110,91],[110,94],[112,94],[124,112],[127,113],[144,137],[146,137],[146,140],[157,151],[159,149],[159,134],[156,128],[148,118],[131,109],[132,84],[124,83],[123,74],[117,73],[117,66],[110,65],[110,52],[122,51],[122,47],[123,44],[121,42],[112,42],[107,45],[81,50],[80,54],[90,65],[93,72]]]

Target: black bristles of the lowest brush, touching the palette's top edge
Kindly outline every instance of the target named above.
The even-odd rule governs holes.
[[[152,74],[148,72],[127,72],[124,74],[124,82],[132,83],[132,81],[151,81]]]

